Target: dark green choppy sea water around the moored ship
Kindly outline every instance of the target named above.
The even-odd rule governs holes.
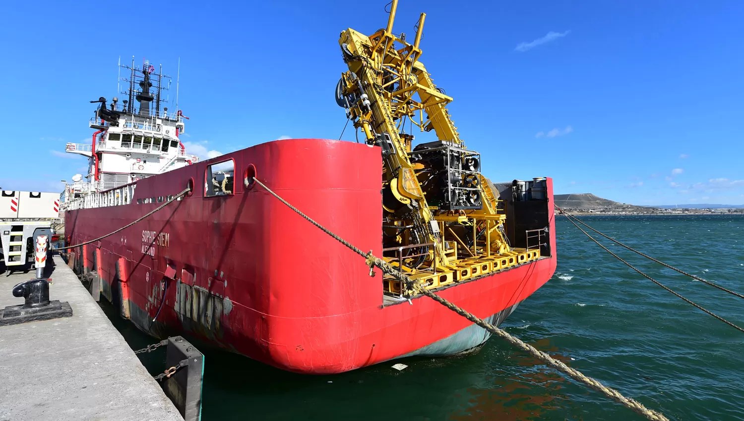
[[[744,292],[743,216],[602,216],[600,231]],[[558,218],[556,275],[503,327],[672,420],[744,419],[744,333],[632,272]],[[609,246],[687,298],[744,325],[744,300]],[[117,322],[132,347],[153,342]],[[163,370],[163,351],[144,357]],[[202,420],[643,420],[491,339],[480,353],[301,376],[205,352]]]

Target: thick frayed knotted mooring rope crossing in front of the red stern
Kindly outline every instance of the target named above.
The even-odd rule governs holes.
[[[643,404],[641,404],[641,402],[638,402],[635,399],[623,396],[622,394],[620,394],[619,391],[616,391],[613,388],[609,388],[603,385],[601,382],[599,382],[596,379],[592,379],[591,377],[585,376],[580,371],[574,368],[568,367],[568,365],[565,365],[565,363],[557,359],[554,359],[552,356],[548,355],[548,353],[545,353],[541,350],[538,350],[536,347],[533,347],[532,345],[522,342],[521,339],[517,338],[516,336],[511,335],[510,333],[507,333],[505,330],[502,330],[501,328],[496,327],[493,324],[490,324],[486,322],[485,320],[472,315],[471,313],[468,313],[466,310],[463,310],[457,305],[452,304],[451,302],[447,301],[445,298],[437,296],[437,294],[433,293],[430,290],[427,290],[426,287],[423,287],[416,281],[413,281],[411,278],[408,278],[408,276],[404,275],[403,272],[400,272],[400,270],[396,270],[394,267],[391,267],[387,262],[383,261],[380,258],[377,258],[375,255],[372,254],[371,251],[368,253],[362,252],[361,249],[359,249],[358,247],[354,247],[348,241],[345,241],[343,238],[339,237],[339,235],[336,235],[333,232],[331,232],[330,229],[327,229],[326,227],[322,226],[320,223],[313,221],[312,218],[305,215],[299,209],[295,208],[295,206],[292,206],[292,204],[290,204],[289,202],[281,198],[272,189],[269,189],[269,187],[267,187],[266,184],[261,183],[260,180],[257,180],[257,178],[253,177],[253,180],[255,180],[255,182],[258,183],[259,186],[263,187],[263,189],[266,189],[266,192],[269,192],[269,194],[277,198],[281,203],[284,203],[287,207],[289,207],[289,209],[292,209],[293,211],[295,211],[302,218],[312,223],[312,225],[317,226],[327,235],[330,235],[336,241],[339,241],[339,243],[344,244],[344,246],[351,249],[353,252],[356,252],[356,254],[364,257],[366,259],[368,266],[370,267],[371,276],[374,275],[373,267],[379,267],[379,269],[382,270],[383,273],[388,273],[390,275],[393,275],[394,278],[401,281],[402,284],[405,284],[407,288],[417,290],[423,295],[429,298],[432,298],[434,301],[437,301],[439,304],[442,304],[444,307],[449,308],[449,310],[452,310],[455,313],[458,313],[460,316],[463,316],[464,318],[468,319],[470,322],[478,324],[478,326],[483,327],[485,330],[488,330],[490,333],[493,333],[494,335],[500,337],[501,339],[504,339],[510,344],[518,347],[519,349],[524,350],[525,352],[541,360],[542,362],[545,362],[545,364],[556,369],[557,371],[566,374],[567,376],[571,377],[571,379],[574,379],[577,382],[581,382],[584,385],[589,386],[589,388],[594,389],[595,391],[598,391],[601,394],[609,397],[609,399],[612,399],[615,402],[625,405],[626,408],[630,408],[635,413],[641,414],[644,417],[647,417],[647,419],[649,420],[669,421],[667,417],[664,417],[664,414],[661,414],[660,412],[652,411],[651,409],[646,408]]]

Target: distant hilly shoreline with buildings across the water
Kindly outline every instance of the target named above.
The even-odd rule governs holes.
[[[574,215],[744,215],[744,206],[725,205],[636,206],[603,199],[590,193],[554,195],[555,203]]]

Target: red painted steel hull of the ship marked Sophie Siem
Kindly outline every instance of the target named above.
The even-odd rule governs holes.
[[[212,163],[234,160],[237,180],[257,178],[357,247],[382,255],[376,147],[279,140],[140,180],[131,204],[71,210],[68,244],[112,232],[181,192],[196,189],[123,232],[72,252],[95,270],[103,295],[153,336],[185,333],[288,371],[339,373],[401,356],[452,355],[488,334],[430,298],[384,304],[382,275],[259,186],[205,197]],[[547,180],[552,203],[552,180]],[[138,201],[153,198],[153,203]],[[545,284],[551,256],[445,287],[437,293],[498,324]],[[159,313],[158,313],[159,311]],[[155,318],[155,316],[157,316]],[[155,322],[153,322],[155,318]]]

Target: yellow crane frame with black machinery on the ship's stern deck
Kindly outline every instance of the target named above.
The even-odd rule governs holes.
[[[466,148],[446,105],[452,97],[434,85],[420,62],[426,13],[413,44],[388,25],[370,36],[351,28],[339,45],[349,70],[336,86],[336,102],[379,146],[385,259],[429,288],[465,281],[539,258],[539,249],[513,249],[498,210],[498,192],[480,172],[481,155]],[[413,146],[405,125],[434,131],[437,140]],[[410,130],[409,130],[410,131]],[[389,293],[400,290],[385,281]]]

